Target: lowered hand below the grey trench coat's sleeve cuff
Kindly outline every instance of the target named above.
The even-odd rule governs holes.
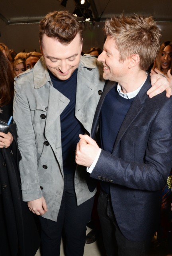
[[[36,215],[44,215],[48,209],[44,197],[27,202],[29,210]]]

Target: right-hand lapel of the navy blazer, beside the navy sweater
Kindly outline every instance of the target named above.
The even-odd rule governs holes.
[[[151,82],[150,82],[150,76],[148,75],[147,80],[145,81],[145,84],[143,85],[143,87],[141,88],[141,90],[139,91],[137,96],[135,96],[135,99],[133,100],[133,102],[126,114],[126,116],[123,120],[123,123],[121,124],[121,127],[119,129],[119,132],[118,132],[118,135],[117,135],[114,147],[113,147],[113,152],[114,152],[115,148],[117,147],[118,143],[120,142],[121,138],[123,137],[123,135],[129,128],[129,126],[132,124],[132,122],[135,120],[135,118],[137,117],[139,112],[144,107],[145,99],[147,97],[149,97],[147,95],[147,91],[149,90],[150,87],[151,87]],[[113,152],[112,152],[112,154],[113,154]]]

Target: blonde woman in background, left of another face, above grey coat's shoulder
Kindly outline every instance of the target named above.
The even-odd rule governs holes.
[[[29,53],[20,52],[14,58],[13,67],[16,76],[26,70],[25,61],[28,55]]]

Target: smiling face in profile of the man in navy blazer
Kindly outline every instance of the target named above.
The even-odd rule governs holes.
[[[115,39],[108,36],[104,43],[104,50],[98,57],[98,61],[102,61],[104,65],[104,79],[121,82],[124,74],[127,73],[128,66],[127,60],[121,63],[119,59],[120,53],[115,46]]]

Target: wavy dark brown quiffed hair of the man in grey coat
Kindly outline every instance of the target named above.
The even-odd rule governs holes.
[[[77,33],[82,42],[82,25],[67,11],[55,11],[47,14],[39,25],[39,39],[42,43],[43,35],[54,37],[63,44],[69,44]]]

